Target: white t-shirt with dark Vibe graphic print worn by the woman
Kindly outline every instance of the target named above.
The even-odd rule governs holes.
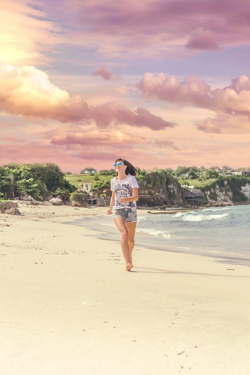
[[[115,204],[113,205],[114,210],[119,210],[121,208],[136,208],[136,202],[130,201],[129,197],[133,196],[133,187],[139,187],[135,176],[128,174],[126,178],[122,181],[118,181],[116,177],[112,178],[110,181],[111,190],[115,192]],[[128,198],[125,203],[120,203],[119,198]]]

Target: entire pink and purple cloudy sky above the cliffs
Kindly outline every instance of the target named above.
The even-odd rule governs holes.
[[[0,1],[0,165],[250,166],[248,0]]]

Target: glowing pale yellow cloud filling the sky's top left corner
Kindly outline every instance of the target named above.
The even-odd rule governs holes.
[[[66,42],[60,26],[33,5],[25,0],[1,2],[0,62],[46,65],[54,60],[49,53],[55,46]]]

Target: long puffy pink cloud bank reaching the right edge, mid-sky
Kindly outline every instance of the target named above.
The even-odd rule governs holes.
[[[207,108],[218,114],[250,115],[250,80],[241,76],[232,80],[224,89],[214,89],[198,77],[186,77],[184,82],[164,73],[154,76],[144,74],[136,84],[141,96],[157,98],[181,106]]]

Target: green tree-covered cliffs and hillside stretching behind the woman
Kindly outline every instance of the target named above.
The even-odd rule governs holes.
[[[222,176],[212,168],[199,171],[196,166],[179,166],[176,171],[171,168],[151,171],[137,169],[139,205],[184,204],[184,188],[181,187],[184,184],[200,189],[206,203],[216,202],[221,197],[236,203],[249,198],[242,191],[242,187],[250,184],[250,177],[247,176]],[[110,180],[114,176],[114,169],[89,174],[68,172],[65,177],[54,163],[7,164],[0,166],[0,199],[13,199],[20,195],[27,199],[30,195],[42,200],[51,195],[60,195],[65,202],[70,193],[80,190],[81,184],[85,183],[91,183],[91,190],[97,195],[103,190],[109,194]]]

